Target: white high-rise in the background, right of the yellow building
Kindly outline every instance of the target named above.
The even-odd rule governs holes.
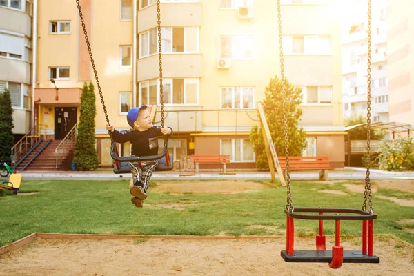
[[[344,2],[342,14],[342,95],[344,117],[366,116],[368,3]],[[386,0],[372,1],[371,120],[389,121]]]

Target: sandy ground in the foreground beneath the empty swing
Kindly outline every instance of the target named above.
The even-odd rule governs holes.
[[[359,240],[355,238],[355,240]],[[327,248],[334,239],[328,237]],[[353,242],[352,244],[355,244]],[[359,246],[342,243],[346,250]],[[295,239],[313,249],[313,239]],[[401,248],[402,246],[402,248]],[[284,238],[273,239],[37,239],[0,256],[0,275],[413,275],[413,248],[393,237],[375,239],[381,264],[286,263]],[[403,254],[404,253],[404,254]]]

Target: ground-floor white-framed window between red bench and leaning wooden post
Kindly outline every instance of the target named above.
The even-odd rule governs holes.
[[[230,155],[231,162],[249,162],[255,161],[255,151],[250,139],[221,139],[220,154]]]

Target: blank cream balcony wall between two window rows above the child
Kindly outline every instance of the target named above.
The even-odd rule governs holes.
[[[201,64],[201,54],[172,53],[162,55],[162,72],[166,78],[201,77]],[[158,55],[138,59],[137,81],[158,77]]]

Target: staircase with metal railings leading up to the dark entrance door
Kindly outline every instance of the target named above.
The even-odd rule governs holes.
[[[26,159],[19,164],[19,166],[16,168],[16,171],[21,171],[21,168],[23,166],[26,166],[28,161],[36,155],[39,150],[46,144],[47,141],[42,141],[39,146],[35,150],[33,150]],[[32,161],[32,163],[29,164],[29,166],[24,171],[47,171],[47,170],[57,170],[56,168],[56,153],[55,149],[60,144],[61,140],[53,140],[51,141],[46,148],[43,149],[42,152],[40,152],[39,155],[37,155],[36,159]],[[59,164],[60,165],[60,164]]]

